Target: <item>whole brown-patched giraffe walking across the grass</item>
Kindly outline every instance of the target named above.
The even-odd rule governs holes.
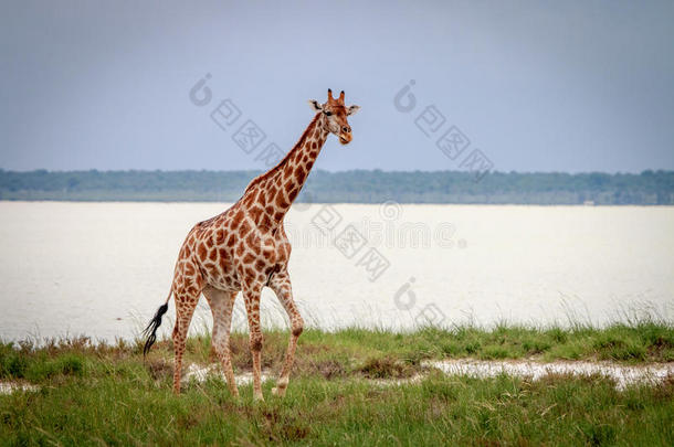
[[[309,105],[316,115],[293,149],[274,168],[256,177],[246,187],[241,199],[229,210],[196,224],[180,248],[166,302],[159,307],[144,331],[147,337],[145,355],[156,340],[157,328],[173,296],[176,302],[176,326],[172,332],[173,392],[176,394],[180,393],[182,355],[188,328],[199,298],[203,294],[213,315],[212,345],[231,394],[239,396],[230,354],[230,328],[234,300],[241,291],[248,315],[250,349],[253,356],[253,396],[256,401],[264,400],[260,377],[263,344],[260,295],[265,286],[276,294],[291,321],[285,360],[276,387],[272,390],[275,395],[285,394],[304,321],[293,300],[287,270],[291,243],[284,231],[283,220],[302,190],[328,135],[337,136],[341,145],[351,141],[351,128],[347,116],[354,115],[359,109],[356,105],[345,106],[344,91],[335,99],[333,92],[328,89],[326,103],[320,104],[313,99],[309,100]]]

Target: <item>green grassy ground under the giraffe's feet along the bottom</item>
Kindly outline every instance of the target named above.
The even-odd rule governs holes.
[[[265,332],[264,368],[280,369],[287,332]],[[232,340],[235,372],[250,370],[248,338]],[[232,400],[222,380],[170,391],[170,342],[147,362],[139,343],[87,339],[0,345],[0,379],[40,386],[0,395],[0,444],[471,444],[671,445],[674,379],[618,391],[602,376],[549,375],[541,381],[445,376],[425,359],[612,360],[629,364],[674,360],[674,328],[642,322],[572,330],[502,327],[307,330],[301,338],[285,400],[253,404],[251,386]],[[193,337],[187,362],[213,361],[208,336]]]

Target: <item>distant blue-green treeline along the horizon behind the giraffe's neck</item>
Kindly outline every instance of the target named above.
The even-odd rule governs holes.
[[[218,201],[241,196],[259,171],[0,170],[0,200]],[[304,202],[674,204],[674,171],[641,174],[313,171]]]

